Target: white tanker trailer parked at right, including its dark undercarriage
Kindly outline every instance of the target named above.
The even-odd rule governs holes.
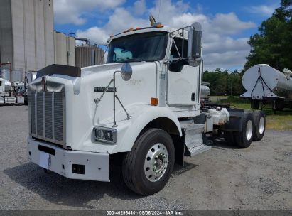
[[[241,97],[251,99],[253,109],[259,109],[259,104],[269,102],[274,110],[292,108],[292,72],[288,69],[281,72],[269,65],[254,65],[244,72],[242,85],[247,92]]]

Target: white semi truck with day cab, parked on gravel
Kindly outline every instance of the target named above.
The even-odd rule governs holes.
[[[107,63],[50,65],[28,87],[28,158],[66,178],[110,181],[119,162],[126,185],[151,195],[174,163],[210,149],[209,134],[248,147],[264,136],[265,117],[200,103],[200,23],[161,23],[109,38]]]

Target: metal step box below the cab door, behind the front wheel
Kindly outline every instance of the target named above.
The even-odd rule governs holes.
[[[185,155],[195,156],[209,150],[211,147],[203,144],[203,131],[205,124],[194,124],[190,121],[180,121],[180,126],[185,136]]]

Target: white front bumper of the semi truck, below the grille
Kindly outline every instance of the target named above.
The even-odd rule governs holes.
[[[109,154],[68,151],[28,137],[28,159],[66,178],[109,182]],[[81,169],[80,169],[81,167]]]

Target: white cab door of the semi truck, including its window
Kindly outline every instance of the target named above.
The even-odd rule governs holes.
[[[188,41],[173,38],[167,88],[167,102],[170,106],[192,106],[198,102],[199,68],[189,65],[187,52]]]

